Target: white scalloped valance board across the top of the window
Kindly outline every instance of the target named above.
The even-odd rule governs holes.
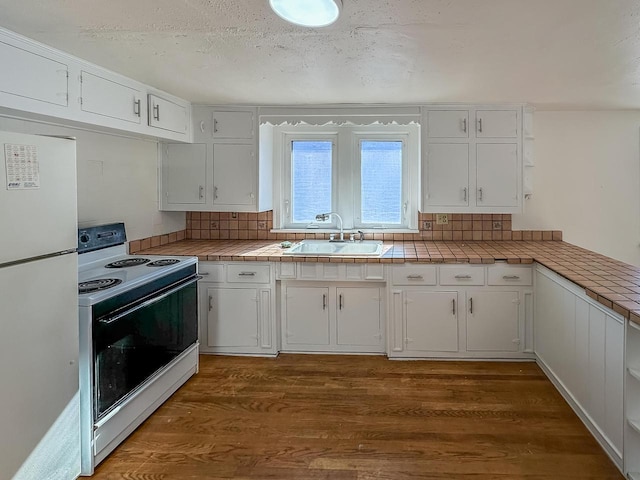
[[[260,125],[411,125],[420,124],[420,107],[261,107]]]

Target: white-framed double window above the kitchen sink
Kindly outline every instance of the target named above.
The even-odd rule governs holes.
[[[274,128],[274,227],[417,228],[419,126]]]

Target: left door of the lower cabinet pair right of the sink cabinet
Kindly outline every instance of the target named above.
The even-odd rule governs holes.
[[[408,351],[458,351],[458,293],[405,291]]]

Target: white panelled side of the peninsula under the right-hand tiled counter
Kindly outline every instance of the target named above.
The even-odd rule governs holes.
[[[624,319],[544,267],[535,282],[538,362],[622,468]]]

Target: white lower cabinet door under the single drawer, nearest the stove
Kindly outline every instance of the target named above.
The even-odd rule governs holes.
[[[208,288],[207,345],[258,346],[258,292],[254,288]]]

